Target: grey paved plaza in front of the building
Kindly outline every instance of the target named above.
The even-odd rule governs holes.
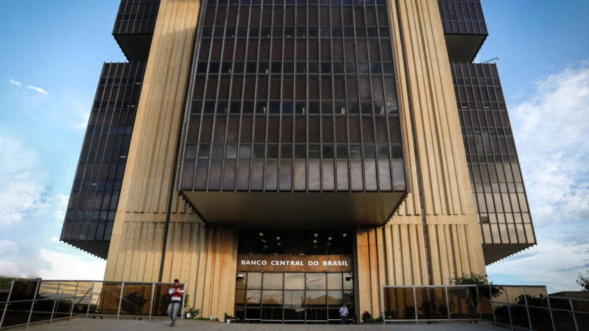
[[[297,324],[227,324],[208,321],[178,321],[175,328],[169,328],[169,321],[117,321],[110,319],[78,319],[53,325],[33,326],[35,331],[152,331],[152,330],[191,330],[191,331],[324,331],[324,330],[394,330],[394,331],[493,331],[505,330],[492,325],[476,323],[448,324],[401,324],[401,325],[297,325]]]

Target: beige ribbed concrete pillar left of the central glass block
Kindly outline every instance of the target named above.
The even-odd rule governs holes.
[[[235,231],[206,228],[177,192],[170,203],[199,4],[160,3],[104,279],[158,281],[169,212],[161,280],[179,278],[190,294],[188,304],[222,319],[233,311]]]

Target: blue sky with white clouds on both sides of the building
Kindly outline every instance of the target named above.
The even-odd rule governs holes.
[[[124,61],[117,0],[3,0],[0,274],[95,279],[105,263],[58,242],[103,62]],[[488,266],[504,284],[574,290],[589,269],[587,1],[483,0],[538,246]]]

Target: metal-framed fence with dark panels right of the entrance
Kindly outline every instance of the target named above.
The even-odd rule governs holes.
[[[383,323],[485,321],[511,330],[589,330],[589,299],[548,296],[544,286],[381,287]]]

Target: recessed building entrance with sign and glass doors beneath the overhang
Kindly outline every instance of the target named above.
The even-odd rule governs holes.
[[[276,237],[280,244],[275,242]],[[242,244],[244,241],[246,244]],[[285,251],[295,249],[294,245],[283,246],[288,246],[289,241],[297,244],[297,254],[285,254]],[[309,245],[305,244],[306,241]],[[324,244],[323,241],[327,242]],[[342,247],[342,244],[348,247]],[[280,248],[281,252],[273,253],[268,249],[272,246]],[[235,278],[235,317],[238,321],[340,323],[339,309],[344,304],[350,312],[349,317],[354,318],[351,240],[344,232],[256,232],[253,238],[251,232],[244,232],[240,233],[239,247]],[[320,254],[322,250],[327,254]]]

